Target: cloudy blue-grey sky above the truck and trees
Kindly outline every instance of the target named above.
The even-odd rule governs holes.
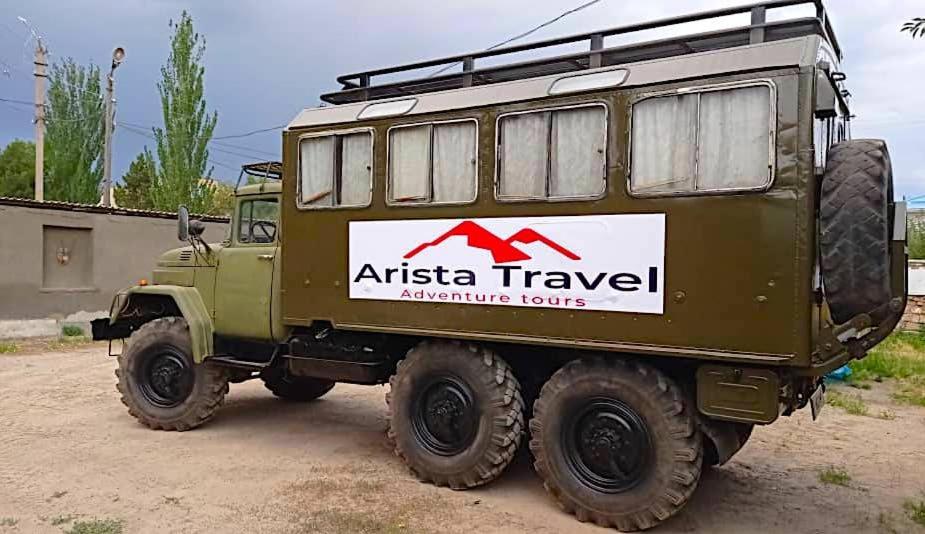
[[[156,84],[167,58],[168,23],[186,9],[206,38],[205,93],[218,112],[215,136],[285,125],[319,95],[339,88],[335,78],[358,70],[484,49],[552,19],[587,0],[0,0],[0,98],[31,101],[34,43],[17,20],[44,38],[50,60],[73,57],[108,66],[121,46],[116,71],[117,128],[113,176],[153,140],[137,126],[161,124]],[[747,0],[600,0],[523,41],[587,32]],[[899,195],[925,195],[925,39],[901,34],[903,22],[925,17],[921,0],[828,0],[845,53],[842,70],[853,94],[854,138],[886,139]],[[794,8],[772,18],[804,15]],[[742,18],[692,24],[676,31],[739,25]],[[659,37],[660,32],[636,39]],[[608,40],[605,45],[620,41]],[[32,109],[0,102],[0,147],[32,139]],[[133,128],[133,126],[129,126]],[[241,163],[278,159],[273,130],[211,145],[214,175],[233,181]],[[233,145],[233,146],[231,146]]]

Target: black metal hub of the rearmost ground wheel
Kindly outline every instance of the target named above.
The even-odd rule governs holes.
[[[620,493],[645,478],[651,457],[648,427],[625,403],[592,399],[566,420],[563,450],[569,469],[583,483]]]

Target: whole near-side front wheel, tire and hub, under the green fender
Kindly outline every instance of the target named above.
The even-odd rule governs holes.
[[[192,357],[181,317],[146,323],[119,356],[117,388],[129,413],[155,430],[190,430],[215,415],[228,393],[226,372]]]

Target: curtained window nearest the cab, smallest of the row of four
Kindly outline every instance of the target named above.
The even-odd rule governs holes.
[[[372,132],[306,137],[299,142],[299,207],[368,206]]]

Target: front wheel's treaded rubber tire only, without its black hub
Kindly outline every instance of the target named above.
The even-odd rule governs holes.
[[[186,359],[193,373],[189,395],[177,406],[164,408],[150,402],[139,383],[140,366],[145,358],[165,347]],[[193,362],[189,326],[181,317],[155,319],[141,326],[129,338],[119,356],[117,388],[128,412],[154,430],[184,431],[196,428],[215,415],[228,393],[225,370],[208,363]]]

